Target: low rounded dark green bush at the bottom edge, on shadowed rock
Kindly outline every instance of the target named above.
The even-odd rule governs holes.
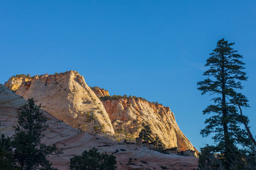
[[[101,169],[112,170],[117,167],[114,155],[100,154],[97,148],[82,152],[81,156],[74,156],[70,159],[69,168],[72,170]]]

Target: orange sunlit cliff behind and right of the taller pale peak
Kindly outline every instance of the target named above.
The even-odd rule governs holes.
[[[102,100],[102,103],[116,133],[122,129],[126,137],[137,137],[141,124],[145,122],[150,125],[153,136],[157,135],[168,148],[177,147],[179,151],[193,150],[199,153],[179,129],[170,108],[132,97]]]

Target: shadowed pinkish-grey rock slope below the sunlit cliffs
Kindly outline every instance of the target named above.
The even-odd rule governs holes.
[[[19,95],[11,92],[8,88],[0,84],[0,133],[11,136],[14,134],[13,126],[17,124],[18,108],[27,101]],[[161,154],[150,150],[146,146],[127,145],[110,141],[96,134],[92,135],[82,132],[61,122],[46,111],[49,128],[44,131],[42,142],[46,145],[55,144],[63,151],[62,155],[51,155],[48,159],[53,163],[53,167],[58,169],[69,169],[69,159],[74,155],[81,155],[84,150],[92,147],[98,148],[100,152],[114,154],[117,158],[117,169],[196,169],[198,159],[189,156],[178,156],[175,154]],[[115,152],[118,150],[118,152]],[[136,165],[126,165],[132,158],[132,163]]]

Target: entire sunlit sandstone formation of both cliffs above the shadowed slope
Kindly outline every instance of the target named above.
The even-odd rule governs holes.
[[[33,97],[36,104],[73,128],[101,133],[117,141],[134,142],[143,122],[150,125],[152,137],[158,136],[167,148],[178,151],[198,151],[181,132],[174,113],[163,105],[150,103],[141,97],[109,96],[100,87],[90,87],[76,71],[55,75],[36,75],[31,80],[18,82],[16,94],[24,99]],[[98,97],[100,99],[98,99]],[[103,134],[104,133],[104,134]],[[115,135],[113,136],[113,134]]]

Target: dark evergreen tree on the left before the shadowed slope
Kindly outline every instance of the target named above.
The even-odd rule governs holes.
[[[20,107],[18,125],[14,126],[15,134],[12,141],[14,159],[20,169],[54,169],[46,159],[48,154],[57,152],[56,146],[41,143],[42,132],[47,129],[46,117],[40,112],[33,99]]]

